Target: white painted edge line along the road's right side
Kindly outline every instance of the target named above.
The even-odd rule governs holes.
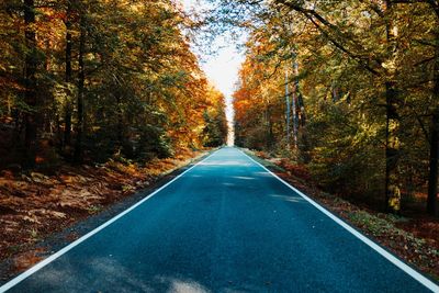
[[[364,235],[362,235],[361,233],[359,233],[357,229],[352,228],[350,225],[348,225],[345,221],[340,219],[338,216],[334,215],[331,212],[329,212],[328,210],[326,210],[325,207],[323,207],[322,205],[319,205],[317,202],[315,202],[314,200],[312,200],[311,198],[308,198],[307,195],[305,195],[304,193],[302,193],[300,190],[297,190],[296,188],[292,187],[290,183],[288,183],[285,180],[283,180],[282,178],[280,178],[279,176],[277,176],[275,173],[273,173],[272,171],[270,171],[268,168],[266,168],[263,165],[261,165],[260,162],[258,162],[257,160],[255,160],[254,158],[251,158],[250,156],[248,156],[246,153],[244,153],[243,150],[239,149],[240,153],[243,153],[245,156],[247,156],[250,160],[252,160],[254,162],[256,162],[257,165],[259,165],[260,167],[262,167],[266,171],[268,171],[271,176],[273,176],[274,178],[277,178],[279,181],[281,181],[283,184],[285,184],[288,188],[290,188],[291,190],[293,190],[294,192],[296,192],[299,195],[301,195],[302,198],[304,198],[307,202],[309,202],[312,205],[314,205],[317,210],[319,210],[322,213],[324,213],[325,215],[327,215],[328,217],[330,217],[334,222],[336,222],[338,225],[340,225],[341,227],[344,227],[345,229],[347,229],[349,233],[351,233],[353,236],[356,236],[357,238],[359,238],[361,241],[363,241],[364,244],[367,244],[369,247],[371,247],[373,250],[375,250],[376,252],[379,252],[381,256],[383,256],[384,258],[386,258],[390,262],[392,262],[393,264],[395,264],[396,267],[398,267],[401,270],[403,270],[404,272],[406,272],[407,274],[409,274],[412,278],[414,278],[416,281],[418,281],[419,283],[421,283],[423,285],[425,285],[427,289],[431,290],[432,292],[439,292],[439,285],[435,284],[432,281],[428,280],[426,277],[424,277],[423,274],[420,274],[419,272],[415,271],[413,268],[410,268],[409,266],[407,266],[406,263],[404,263],[403,261],[401,261],[399,259],[397,259],[395,256],[393,256],[392,253],[390,253],[389,251],[386,251],[385,249],[383,249],[381,246],[379,246],[378,244],[375,244],[374,241],[372,241],[371,239],[369,239],[368,237],[365,237]]]

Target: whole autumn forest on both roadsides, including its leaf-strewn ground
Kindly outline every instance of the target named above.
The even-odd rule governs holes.
[[[0,261],[24,270],[234,134],[437,278],[439,0],[182,2],[0,0]],[[230,132],[191,50],[224,40],[246,53]]]

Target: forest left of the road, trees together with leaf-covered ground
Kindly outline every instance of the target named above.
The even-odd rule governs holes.
[[[198,25],[172,0],[0,1],[0,261],[225,144]]]

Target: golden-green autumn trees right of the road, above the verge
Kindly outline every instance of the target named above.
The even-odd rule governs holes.
[[[327,189],[383,194],[387,211],[428,193],[437,213],[438,1],[215,2],[216,16],[250,32],[239,145],[290,147]]]

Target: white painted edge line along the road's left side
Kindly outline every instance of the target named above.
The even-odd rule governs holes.
[[[37,272],[38,270],[43,269],[44,267],[46,267],[48,263],[50,263],[52,261],[56,260],[57,258],[59,258],[60,256],[65,255],[67,251],[69,251],[70,249],[72,249],[74,247],[78,246],[79,244],[83,243],[85,240],[87,240],[88,238],[90,238],[91,236],[93,236],[94,234],[99,233],[100,230],[104,229],[105,227],[110,226],[112,223],[114,223],[115,221],[117,221],[119,218],[123,217],[124,215],[126,215],[127,213],[130,213],[131,211],[133,211],[134,209],[136,209],[137,206],[139,206],[140,204],[143,204],[144,202],[146,202],[147,200],[149,200],[150,198],[153,198],[154,195],[156,195],[157,193],[159,193],[161,190],[164,190],[165,188],[167,188],[168,185],[170,185],[172,182],[175,182],[176,180],[178,180],[180,177],[182,177],[183,174],[185,174],[187,172],[189,172],[190,170],[192,170],[193,168],[195,168],[198,165],[200,165],[201,162],[205,161],[206,159],[209,159],[210,157],[212,157],[217,150],[215,150],[214,153],[212,153],[211,155],[209,155],[207,157],[205,157],[204,159],[202,159],[199,162],[195,162],[192,167],[190,167],[189,169],[187,169],[184,172],[178,174],[176,178],[173,178],[171,181],[167,182],[165,185],[160,187],[159,189],[155,190],[153,193],[148,194],[146,198],[144,198],[143,200],[140,200],[139,202],[137,202],[136,204],[132,205],[131,207],[128,207],[127,210],[123,211],[122,213],[117,214],[116,216],[112,217],[111,219],[106,221],[105,223],[103,223],[102,225],[100,225],[99,227],[94,228],[93,230],[89,232],[88,234],[83,235],[82,237],[78,238],[77,240],[75,240],[74,243],[69,244],[68,246],[64,247],[63,249],[58,250],[57,252],[55,252],[54,255],[45,258],[44,260],[40,261],[38,263],[36,263],[35,266],[33,266],[32,268],[30,268],[29,270],[22,272],[21,274],[19,274],[18,277],[15,277],[14,279],[12,279],[11,281],[7,282],[5,284],[3,284],[2,286],[0,286],[0,293],[3,293],[10,289],[12,289],[13,286],[15,286],[16,284],[19,284],[21,281],[25,280],[26,278],[29,278],[30,275],[32,275],[33,273]]]

